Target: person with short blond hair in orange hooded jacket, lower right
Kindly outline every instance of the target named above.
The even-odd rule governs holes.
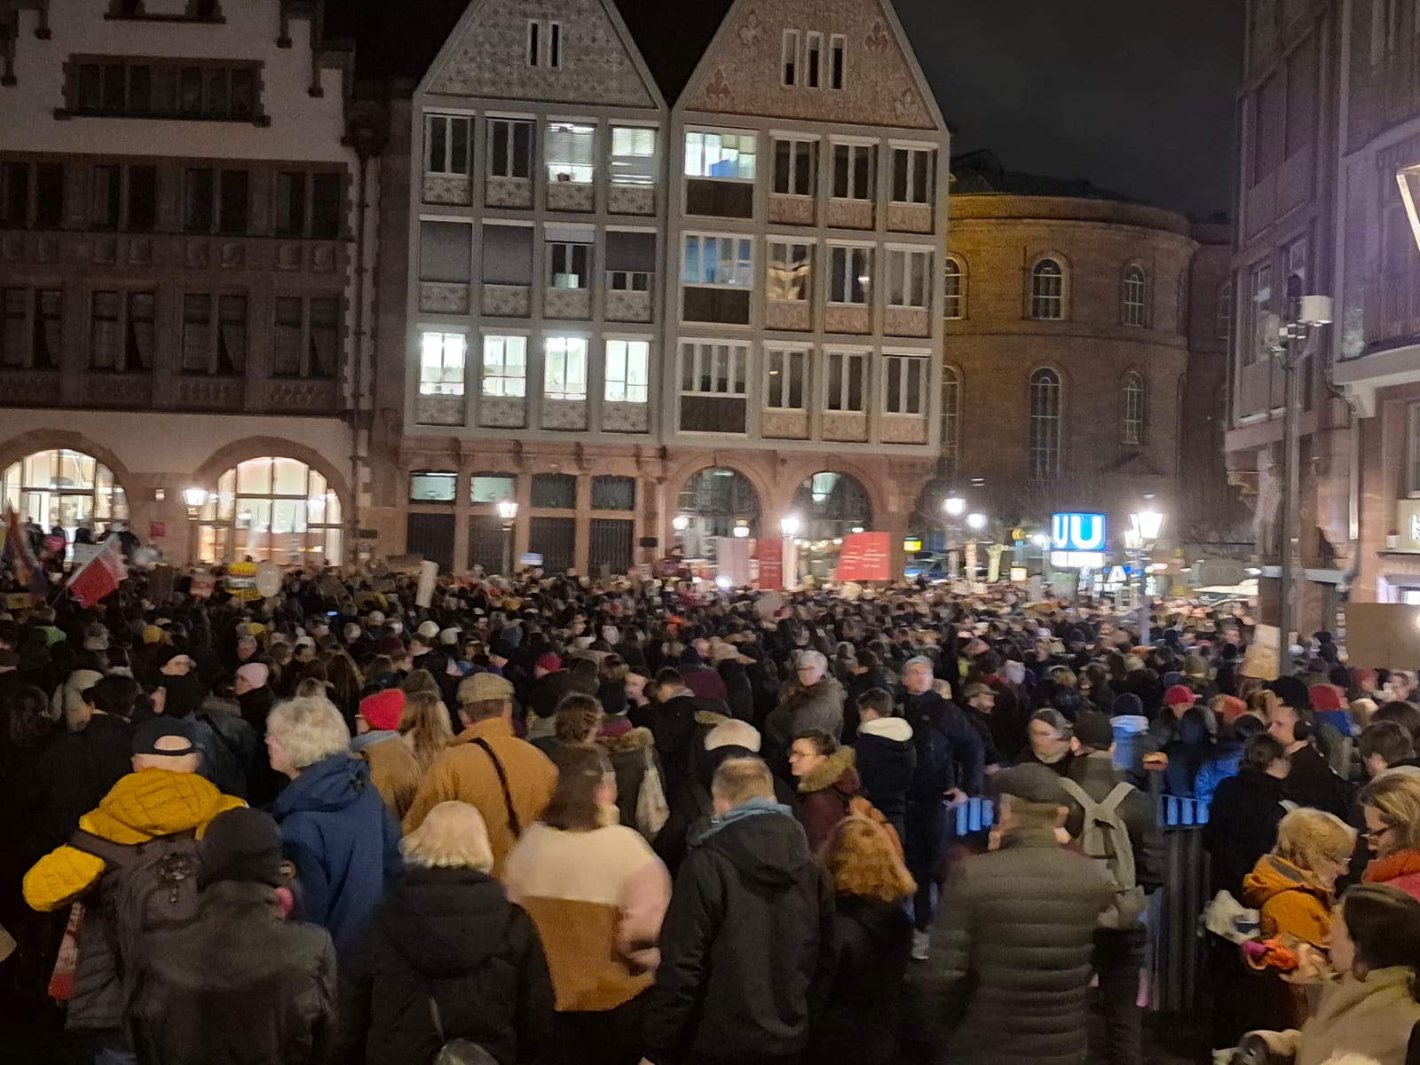
[[[1319,809],[1294,809],[1277,829],[1277,846],[1242,880],[1242,903],[1258,912],[1264,940],[1288,949],[1326,950],[1336,879],[1350,866],[1356,831]],[[1248,1028],[1295,1028],[1306,1020],[1299,984],[1264,973],[1247,995]]]

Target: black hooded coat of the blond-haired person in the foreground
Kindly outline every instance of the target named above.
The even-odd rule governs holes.
[[[552,978],[532,919],[473,869],[410,866],[341,964],[338,1065],[425,1065],[444,1038],[498,1065],[535,1061],[552,1024]]]

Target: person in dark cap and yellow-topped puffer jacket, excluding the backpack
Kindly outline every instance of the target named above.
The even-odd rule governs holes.
[[[80,831],[99,841],[136,846],[159,836],[193,832],[227,809],[244,807],[197,775],[202,754],[192,726],[180,719],[156,717],[133,733],[133,771],[119,778],[97,809],[80,818]],[[105,876],[98,855],[65,843],[24,875],[24,900],[48,912],[87,899],[80,929],[74,991],[65,1027],[94,1032],[105,1061],[133,1061],[122,1032],[122,988],[109,930],[116,878]]]

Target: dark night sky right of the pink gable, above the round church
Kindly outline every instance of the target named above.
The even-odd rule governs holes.
[[[1238,0],[896,0],[956,129],[1011,170],[1207,216],[1231,200]]]

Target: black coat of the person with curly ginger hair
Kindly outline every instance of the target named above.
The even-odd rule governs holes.
[[[912,920],[897,903],[839,895],[828,993],[815,1010],[815,1065],[893,1065]]]

